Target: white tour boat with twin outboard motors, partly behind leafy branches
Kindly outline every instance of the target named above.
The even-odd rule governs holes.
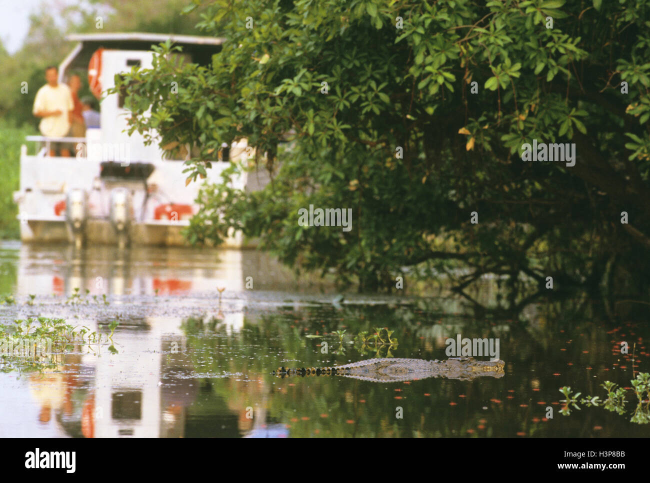
[[[213,37],[144,33],[68,36],[77,45],[59,66],[59,82],[71,73],[90,70],[92,81],[101,85],[104,96],[100,104],[101,127],[86,129],[83,138],[26,138],[32,153],[23,144],[20,189],[14,192],[23,242],[72,242],[76,246],[186,244],[181,230],[198,212],[195,200],[202,183],[186,186],[184,159],[164,159],[165,151],[155,143],[145,146],[137,132],[129,137],[125,130],[131,112],[123,107],[119,94],[105,95],[114,87],[117,73],[129,72],[132,66],[151,68],[151,46],[168,39],[183,47],[183,61],[203,65],[209,65],[223,42]],[[77,152],[74,157],[49,157],[49,145],[40,148],[42,142],[71,142]],[[254,152],[246,150],[246,140],[222,147],[229,148],[229,152],[222,150],[227,152],[225,159],[212,161],[207,178],[200,181],[219,182],[229,159],[245,159]],[[233,185],[252,190],[266,182],[265,172],[257,172],[243,174]],[[240,233],[231,233],[224,242],[231,248],[244,244],[252,243],[244,241]]]

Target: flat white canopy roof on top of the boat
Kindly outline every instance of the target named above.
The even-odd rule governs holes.
[[[221,50],[226,39],[200,35],[151,34],[141,32],[69,34],[66,40],[79,42],[64,60],[64,68],[88,68],[92,54],[103,47],[114,50],[151,50],[152,45],[170,40],[183,47],[183,53],[192,55],[192,62],[209,65],[212,55]]]

